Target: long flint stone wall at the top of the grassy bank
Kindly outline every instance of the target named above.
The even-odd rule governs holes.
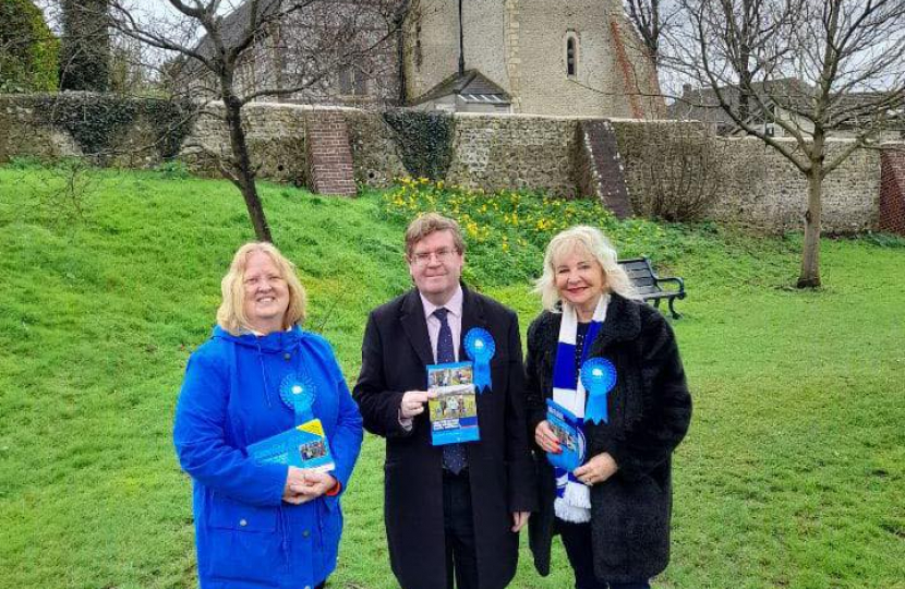
[[[27,95],[0,95],[0,161],[15,157],[58,158],[82,154],[64,131],[52,128],[50,117]],[[222,107],[220,107],[222,108]],[[200,175],[218,176],[210,154],[229,153],[229,135],[216,115],[197,118],[183,143],[180,158]],[[252,161],[258,177],[306,185],[305,125],[307,112],[341,111],[348,129],[354,177],[359,184],[386,187],[406,173],[393,130],[382,115],[350,108],[326,108],[255,103],[244,116],[249,123]],[[487,191],[540,190],[560,196],[577,195],[581,149],[577,137],[580,118],[536,116],[457,115],[452,160],[447,182]],[[705,137],[700,125],[676,121],[613,120],[626,188],[636,213],[645,211],[645,176],[663,165],[663,149],[677,136]],[[109,165],[147,168],[160,163],[148,145],[149,128],[141,119],[120,133]],[[719,199],[707,216],[741,223],[765,231],[801,228],[807,183],[780,154],[755,139],[707,140],[714,154],[713,168],[722,175]],[[830,142],[830,157],[845,140]],[[901,146],[900,146],[901,147]],[[880,154],[861,149],[824,181],[823,228],[846,233],[878,229]]]

